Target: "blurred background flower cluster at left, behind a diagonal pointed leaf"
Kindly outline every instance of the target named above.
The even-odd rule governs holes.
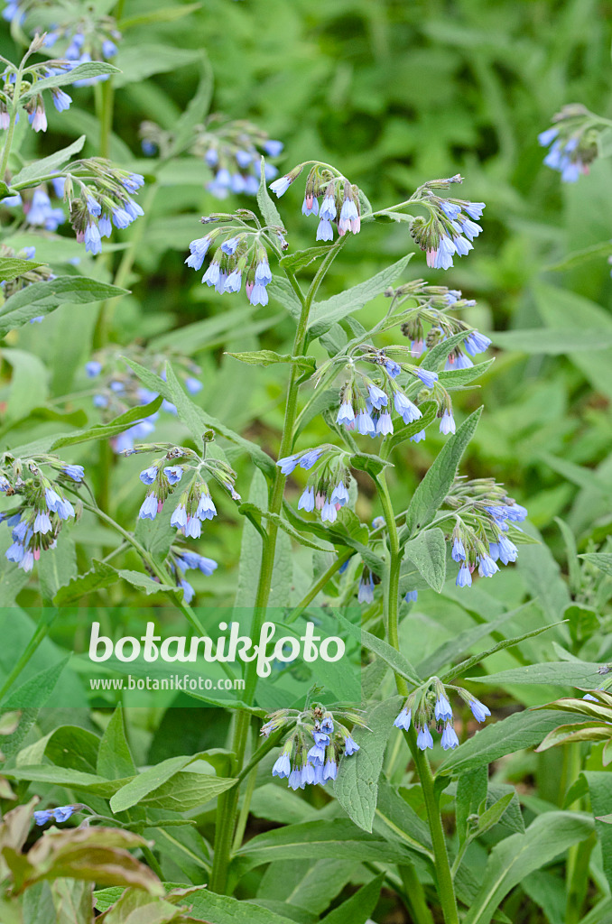
[[[158,396],[156,392],[142,387],[139,379],[129,366],[126,366],[123,359],[126,356],[137,359],[141,365],[165,379],[164,367],[168,359],[167,352],[165,354],[147,353],[137,346],[130,346],[122,354],[119,354],[116,348],[95,353],[86,364],[85,372],[88,378],[96,380],[97,388],[93,395],[93,404],[102,409],[104,423],[124,414],[130,407],[151,404]],[[197,378],[201,372],[200,367],[180,354],[174,354],[171,359],[173,369],[177,371],[190,395],[196,395],[201,391],[202,382]],[[168,414],[177,414],[177,408],[167,400],[162,402],[160,410]],[[111,440],[114,451],[117,454],[125,453],[133,447],[134,443],[151,436],[158,418],[159,411],[155,411],[147,418],[133,424],[129,430],[119,433]]]

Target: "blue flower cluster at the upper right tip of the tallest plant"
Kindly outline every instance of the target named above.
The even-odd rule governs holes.
[[[427,265],[435,270],[450,269],[453,257],[468,254],[473,249],[471,241],[483,230],[477,222],[483,214],[484,202],[441,198],[435,192],[462,182],[459,174],[448,179],[431,180],[418,188],[410,199],[429,213],[427,217],[412,219],[410,235],[425,251]]]

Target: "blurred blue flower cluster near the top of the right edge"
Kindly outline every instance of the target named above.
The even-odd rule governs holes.
[[[588,174],[597,157],[598,140],[604,125],[598,116],[580,103],[564,106],[553,116],[553,123],[551,128],[538,135],[543,148],[550,145],[544,163],[558,170],[565,183],[575,183],[581,174]]]

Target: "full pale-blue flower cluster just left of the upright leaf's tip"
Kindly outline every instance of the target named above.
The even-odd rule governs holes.
[[[347,381],[340,390],[340,406],[336,422],[349,431],[357,431],[362,436],[387,436],[394,432],[393,417],[403,420],[405,424],[414,423],[422,418],[422,411],[399,387],[398,376],[407,373],[409,385],[422,383],[433,389],[437,383],[437,372],[421,369],[411,363],[398,363],[387,355],[390,351],[408,352],[406,347],[390,347],[389,350],[377,350],[373,346],[360,346],[361,356],[349,358]],[[373,364],[376,371],[367,375],[358,369],[356,361]],[[424,432],[414,433],[410,439],[419,442]]]

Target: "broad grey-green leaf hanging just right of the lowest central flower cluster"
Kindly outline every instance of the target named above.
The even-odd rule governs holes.
[[[383,767],[389,729],[401,709],[399,697],[376,703],[364,716],[367,728],[352,731],[360,749],[343,758],[334,784],[334,795],[349,818],[363,831],[372,832],[378,777]]]

